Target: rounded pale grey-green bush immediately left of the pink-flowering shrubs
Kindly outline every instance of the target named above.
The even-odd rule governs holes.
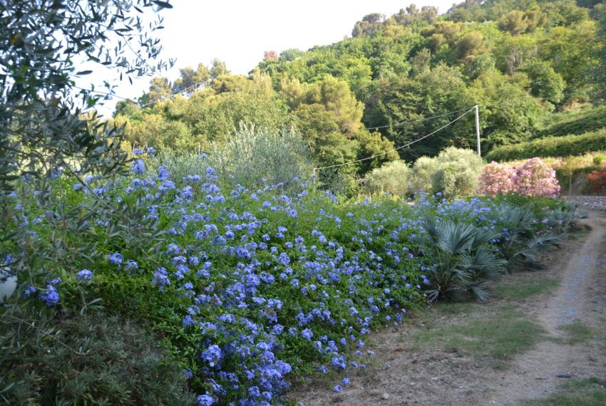
[[[416,189],[431,189],[445,197],[467,196],[476,192],[483,165],[473,150],[448,147],[437,157],[419,158],[411,177]]]

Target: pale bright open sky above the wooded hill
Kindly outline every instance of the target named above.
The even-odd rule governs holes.
[[[420,0],[422,6],[435,6],[439,14],[451,8],[453,0]],[[396,14],[412,3],[394,0],[171,0],[173,9],[163,9],[165,27],[157,31],[163,44],[161,58],[176,59],[165,76],[173,81],[179,77],[179,68],[195,68],[202,62],[210,67],[213,58],[227,64],[235,74],[247,74],[262,61],[265,51],[280,53],[289,48],[306,51],[317,45],[328,45],[351,36],[356,21],[366,14]],[[97,73],[77,84],[100,88],[107,73]],[[149,88],[150,77],[128,80],[115,79],[115,94],[122,98],[137,98]],[[111,115],[113,98],[99,108],[101,114]]]

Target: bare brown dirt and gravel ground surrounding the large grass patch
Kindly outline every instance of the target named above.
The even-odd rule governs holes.
[[[545,330],[545,339],[508,360],[505,368],[494,359],[473,358],[456,349],[411,348],[410,338],[426,330],[426,323],[463,325],[478,318],[465,312],[447,316],[433,312],[376,334],[376,358],[369,360],[366,370],[343,375],[351,377],[343,392],[331,390],[340,383],[333,376],[327,382],[295,385],[292,398],[307,406],[518,405],[550,395],[568,379],[605,378],[606,217],[592,211],[583,222],[591,228],[586,236],[569,239],[563,249],[550,254],[544,275],[560,281],[555,290],[529,301],[495,300],[490,305],[493,313],[481,313],[498,318],[499,306],[515,306]],[[508,279],[528,277],[524,274]],[[603,337],[575,339],[563,329],[571,325]]]

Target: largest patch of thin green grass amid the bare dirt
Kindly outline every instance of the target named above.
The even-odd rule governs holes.
[[[543,340],[544,335],[543,328],[528,320],[524,313],[503,306],[491,318],[478,316],[464,326],[439,326],[436,323],[430,330],[418,332],[410,338],[414,349],[443,348],[474,358],[510,360],[513,355],[523,353]],[[503,368],[502,363],[498,364]]]

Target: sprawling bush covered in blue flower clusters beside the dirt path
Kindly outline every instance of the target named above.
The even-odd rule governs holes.
[[[151,162],[137,157],[131,175],[113,181],[57,176],[54,200],[25,185],[8,211],[19,238],[1,248],[7,263],[46,270],[19,272],[16,300],[59,314],[102,305],[140,321],[183,368],[200,405],[279,404],[292,377],[363,368],[371,330],[426,306],[436,270],[452,271],[427,249],[438,240],[421,217],[486,231],[451,250],[460,259],[453,264],[466,261],[478,275],[463,277],[464,293],[483,277],[468,257],[498,255],[511,210],[506,200],[423,194],[414,206],[389,197],[342,202],[298,179],[289,197],[282,184],[225,187],[210,166],[175,179]],[[78,222],[56,221],[82,204],[91,212]],[[96,211],[101,205],[114,210]],[[94,254],[78,254],[90,251],[82,247]],[[493,262],[491,280],[502,265]]]

